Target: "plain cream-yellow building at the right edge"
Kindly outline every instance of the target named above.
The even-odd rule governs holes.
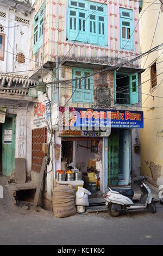
[[[149,7],[150,15],[145,12],[140,21],[140,44],[142,52],[162,43],[162,4]],[[142,10],[147,3],[142,1]],[[152,42],[152,45],[151,45]],[[154,184],[162,185],[162,47],[142,59],[142,107],[144,111],[144,129],[141,130],[141,173],[147,175]]]

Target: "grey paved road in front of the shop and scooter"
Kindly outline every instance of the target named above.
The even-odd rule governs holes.
[[[1,199],[0,204],[5,205]],[[163,205],[157,206],[156,214],[146,210],[112,218],[105,212],[62,219],[41,209],[5,208],[0,245],[162,245]]]

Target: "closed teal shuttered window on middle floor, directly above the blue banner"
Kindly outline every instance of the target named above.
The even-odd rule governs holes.
[[[89,69],[72,69],[72,102],[93,103],[93,73]],[[83,78],[85,77],[85,78]]]

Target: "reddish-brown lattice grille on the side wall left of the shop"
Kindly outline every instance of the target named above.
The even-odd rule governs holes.
[[[32,131],[32,170],[40,173],[44,153],[42,144],[47,143],[47,129],[40,128]]]

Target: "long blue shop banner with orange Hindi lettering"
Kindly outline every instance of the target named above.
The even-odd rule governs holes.
[[[59,126],[103,130],[106,128],[143,128],[143,112],[119,109],[59,107]],[[79,130],[80,130],[79,129]],[[62,129],[64,130],[64,129]]]

